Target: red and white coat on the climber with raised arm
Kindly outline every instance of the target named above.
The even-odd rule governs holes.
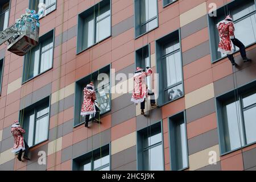
[[[135,73],[133,76],[134,79],[134,89],[133,96],[131,97],[131,101],[135,104],[141,103],[147,96],[147,85],[146,85],[146,77],[152,74],[152,69],[149,68],[147,72],[139,72]]]

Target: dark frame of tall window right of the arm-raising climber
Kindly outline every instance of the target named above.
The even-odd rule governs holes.
[[[162,81],[158,81],[158,88],[159,88],[159,97],[158,97],[158,104],[159,106],[164,106],[164,105],[167,105],[167,104],[170,104],[171,102],[174,102],[176,100],[179,100],[180,98],[183,98],[185,97],[185,90],[184,90],[184,75],[183,75],[183,55],[182,55],[182,47],[181,47],[181,32],[180,32],[180,28],[162,36],[161,38],[159,39],[156,39],[155,40],[155,60],[156,60],[156,71],[158,72],[159,74],[159,78],[158,80],[160,80],[160,77],[161,77],[161,72],[162,72],[162,68],[161,68],[161,62],[163,61],[162,59],[162,44],[163,43],[160,43],[160,42],[168,42],[168,41],[164,41],[163,39],[166,39],[167,38],[170,38],[170,37],[173,37],[175,34],[178,34],[179,35],[179,46],[180,46],[180,61],[181,61],[181,82],[177,83],[177,85],[180,85],[182,84],[182,89],[183,89],[183,96],[179,97],[179,98],[175,98],[174,100],[171,100],[171,101],[168,101],[168,102],[165,102],[163,97],[164,97],[164,90],[165,88],[163,87],[163,83]],[[168,55],[168,54],[167,54]],[[166,76],[166,73],[162,72],[162,74],[164,74],[164,76]],[[163,76],[162,76],[163,77]],[[176,85],[176,84],[174,84]],[[167,88],[169,88],[170,86],[168,86]],[[172,86],[171,88],[173,88],[175,86]]]

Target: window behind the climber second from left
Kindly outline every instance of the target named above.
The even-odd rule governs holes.
[[[83,102],[83,90],[90,81],[93,81],[96,91],[97,102],[100,105],[101,115],[107,113],[111,109],[110,98],[110,65],[92,73],[91,75],[82,78],[76,82],[76,95],[75,95],[75,125],[80,125],[85,121],[82,118],[81,107]]]

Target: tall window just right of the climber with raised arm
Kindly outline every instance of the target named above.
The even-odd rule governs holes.
[[[160,105],[184,96],[179,30],[156,40]]]

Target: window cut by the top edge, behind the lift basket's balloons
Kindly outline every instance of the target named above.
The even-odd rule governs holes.
[[[39,3],[46,4],[46,15],[56,10],[56,0],[30,0],[30,9],[38,12]]]

